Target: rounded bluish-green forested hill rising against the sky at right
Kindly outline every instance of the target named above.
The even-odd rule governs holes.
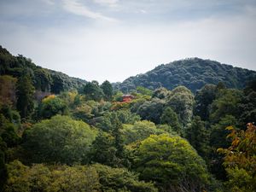
[[[255,71],[232,67],[218,61],[190,58],[162,64],[148,73],[138,74],[125,79],[123,83],[113,85],[115,89],[124,92],[136,90],[137,86],[151,90],[163,86],[172,90],[178,85],[184,85],[195,92],[205,84],[218,84],[218,82],[224,82],[229,88],[241,89],[248,80],[255,77]]]

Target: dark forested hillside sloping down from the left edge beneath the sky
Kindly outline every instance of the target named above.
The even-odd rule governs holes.
[[[79,89],[86,81],[69,77],[67,74],[55,72],[35,65],[31,59],[23,55],[14,56],[0,45],[0,75],[11,75],[20,78],[29,75],[36,90],[60,93],[65,90]]]

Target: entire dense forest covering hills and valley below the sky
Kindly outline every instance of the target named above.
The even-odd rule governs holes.
[[[0,50],[0,191],[256,191],[256,72],[195,58],[113,88]]]

